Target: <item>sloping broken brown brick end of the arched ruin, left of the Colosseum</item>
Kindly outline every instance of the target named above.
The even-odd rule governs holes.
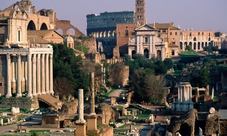
[[[67,32],[70,28],[74,29],[75,37],[85,36],[78,28],[73,26],[69,20],[56,20],[55,21],[55,30],[61,29],[63,32],[63,36],[67,35]]]

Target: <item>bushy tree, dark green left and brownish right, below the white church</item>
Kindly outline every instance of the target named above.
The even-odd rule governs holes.
[[[164,98],[164,78],[155,76],[148,69],[135,70],[130,78],[130,90],[134,90],[134,100],[136,102],[160,103]]]

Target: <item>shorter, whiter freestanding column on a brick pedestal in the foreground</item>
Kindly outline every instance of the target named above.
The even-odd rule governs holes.
[[[78,120],[77,123],[85,123],[84,120],[84,90],[79,89],[79,105],[78,105]]]

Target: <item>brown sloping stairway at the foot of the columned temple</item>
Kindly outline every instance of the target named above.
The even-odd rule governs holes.
[[[57,98],[51,96],[50,94],[38,95],[38,100],[45,102],[46,104],[53,106],[56,109],[61,109],[63,102]]]

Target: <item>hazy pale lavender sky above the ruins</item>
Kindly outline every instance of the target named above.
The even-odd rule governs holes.
[[[3,10],[20,0],[1,0]],[[134,11],[135,0],[32,0],[37,11],[53,9],[59,20],[86,34],[86,15],[102,12]],[[212,30],[227,33],[227,0],[146,0],[148,23],[174,22],[182,30]]]

